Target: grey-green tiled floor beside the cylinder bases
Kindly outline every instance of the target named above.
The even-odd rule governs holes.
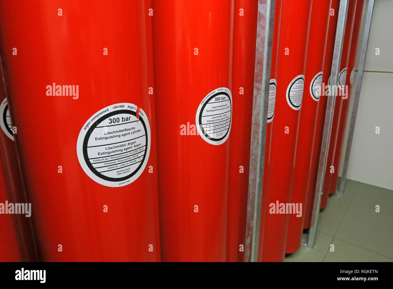
[[[299,261],[392,262],[393,191],[347,180],[344,195],[330,195],[321,210],[314,249],[302,245],[285,257],[285,262]]]

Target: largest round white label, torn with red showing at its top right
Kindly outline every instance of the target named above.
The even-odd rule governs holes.
[[[138,179],[150,153],[150,125],[145,112],[132,103],[117,103],[93,114],[77,141],[82,169],[92,180],[121,187]]]

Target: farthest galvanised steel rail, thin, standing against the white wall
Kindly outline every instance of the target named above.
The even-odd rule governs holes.
[[[374,8],[374,0],[369,0],[366,15],[365,15],[366,20],[365,20],[365,26],[364,26],[363,39],[362,39],[362,43],[361,43],[362,46],[361,46],[361,54],[360,54],[360,59],[359,59],[359,71],[358,71],[358,76],[356,77],[356,90],[355,90],[355,94],[354,94],[351,122],[349,124],[347,147],[345,148],[345,157],[344,157],[344,162],[343,162],[342,177],[340,179],[340,182],[337,185],[338,188],[336,191],[340,195],[344,194],[345,181],[347,180],[349,155],[351,154],[351,146],[352,146],[352,140],[353,140],[353,133],[354,133],[354,129],[355,129],[356,114],[358,112],[360,88],[362,87],[364,63],[365,63],[365,59],[366,59],[367,44],[368,44],[368,39],[369,39],[370,27],[371,27],[371,18],[373,16],[373,8]],[[363,17],[364,17],[364,15],[363,15]]]

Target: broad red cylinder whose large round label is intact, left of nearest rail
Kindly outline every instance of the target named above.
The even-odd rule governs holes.
[[[225,261],[234,1],[152,5],[162,260]]]

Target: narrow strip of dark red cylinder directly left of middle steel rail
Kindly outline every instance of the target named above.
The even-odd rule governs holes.
[[[329,19],[329,29],[327,32],[325,60],[323,64],[322,87],[323,85],[325,86],[328,85],[331,70],[332,70],[334,40],[336,37],[339,8],[340,8],[340,0],[332,0],[332,6],[329,14],[330,19]],[[311,224],[312,206],[314,204],[314,194],[315,194],[315,187],[316,187],[317,174],[318,174],[318,164],[319,164],[322,137],[323,137],[323,125],[325,123],[327,96],[325,96],[325,94],[322,94],[321,100],[319,102],[320,105],[318,107],[318,116],[317,116],[317,122],[315,128],[314,149],[312,152],[309,188],[307,193],[307,204],[306,204],[304,225],[303,225],[303,228],[305,229],[310,228],[310,224]]]

